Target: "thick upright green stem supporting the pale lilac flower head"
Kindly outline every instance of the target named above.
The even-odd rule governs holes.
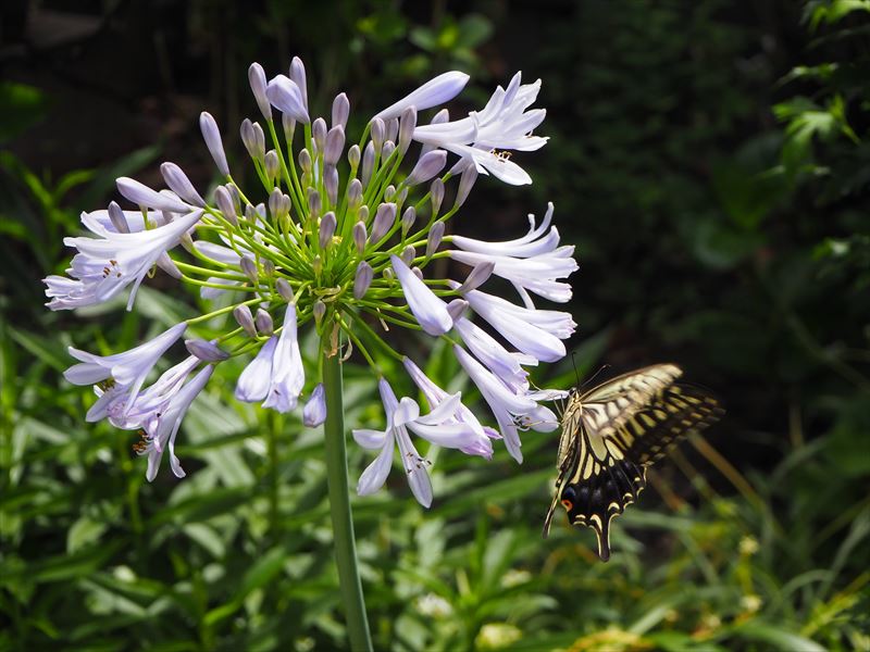
[[[345,411],[341,404],[341,362],[337,354],[328,356],[326,338],[321,346],[323,355],[323,389],[326,397],[324,440],[326,474],[330,486],[330,512],[335,538],[335,561],[338,584],[345,603],[350,649],[355,652],[372,650],[369,619],[362,597],[362,584],[357,568],[357,543],[353,538],[353,519],[350,515],[350,497],[347,481],[347,449],[345,446]]]

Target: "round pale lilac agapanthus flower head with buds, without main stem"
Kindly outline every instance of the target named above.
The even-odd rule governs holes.
[[[95,385],[98,397],[87,419],[141,430],[136,449],[148,456],[149,480],[166,450],[173,473],[183,477],[174,448],[185,413],[221,363],[244,356],[236,399],[286,413],[307,397],[302,421],[320,425],[324,388],[319,378],[306,378],[299,344],[300,329],[310,326],[321,342],[314,353],[347,358],[358,351],[378,377],[386,427],[353,430],[360,446],[380,451],[359,479],[359,493],[383,486],[398,447],[414,497],[430,505],[428,464],[414,437],[486,459],[500,439],[521,462],[519,432],[557,426],[542,404],[556,393],[533,389],[526,368],[562,358],[563,340],[575,327],[568,313],[542,310],[532,296],[569,301],[563,279],[576,268],[573,247],[559,246],[552,204],[539,223],[530,215],[524,236],[508,241],[447,235],[446,227],[478,175],[531,183],[510,154],[546,143],[532,135],[545,116],[543,109],[530,109],[540,82],[522,84],[518,73],[482,111],[451,121],[442,109],[420,124],[422,112],[453,99],[469,79],[445,73],[381,111],[347,147],[348,97],[335,98],[328,121],[312,117],[298,58],[288,75],[268,79],[257,63],[248,74],[262,121],[245,120],[240,135],[261,187],[236,183],[217,124],[202,113],[202,136],[221,184],[200,192],[169,162],[160,168],[165,189],[117,179],[133,210],[112,202],[83,214],[92,236],[66,238],[77,250],[67,276],[45,279],[52,310],[94,305],[124,291],[132,310],[139,285],[158,268],[217,302],[213,312],[123,353],[71,348],[79,362],[66,378]],[[431,263],[445,258],[467,269],[465,277],[427,277]],[[520,303],[481,289],[492,276],[509,281]],[[199,323],[229,313],[226,333],[196,337]],[[475,324],[474,315],[490,328]],[[438,387],[418,355],[396,351],[388,341],[396,328],[446,339],[492,416],[478,417],[460,392]],[[158,361],[182,340],[187,356],[149,385]],[[414,399],[396,396],[381,373],[382,355],[401,361],[427,413]]]

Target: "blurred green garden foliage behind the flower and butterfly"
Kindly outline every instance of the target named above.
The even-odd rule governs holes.
[[[200,48],[219,73],[298,51],[313,101],[347,80],[360,124],[449,67],[475,74],[469,106],[515,67],[543,77],[551,140],[523,161],[532,192],[481,180],[459,228],[515,234],[552,199],[581,260],[581,375],[672,359],[728,402],[650,474],[608,564],[591,532],[540,539],[549,436],[525,435],[521,467],[430,450],[430,511],[401,474],[355,499],[377,648],[870,649],[869,3],[546,4],[270,0],[238,30],[245,7],[222,0],[183,22],[195,51],[222,43]],[[250,111],[225,79],[211,101]],[[340,648],[319,429],[239,405],[224,372],[185,421],[188,477],[149,485],[135,435],[84,423],[92,399],[61,377],[66,346],[124,350],[197,308],[159,285],[135,313],[41,305],[77,213],[163,146],[28,166],[12,152],[51,95],[4,83],[0,100],[3,139],[20,137],[0,154],[0,650]],[[427,371],[473,397],[448,351]],[[371,376],[346,374],[347,423],[381,426]],[[538,381],[572,384],[570,363]],[[355,479],[368,459],[351,451]]]

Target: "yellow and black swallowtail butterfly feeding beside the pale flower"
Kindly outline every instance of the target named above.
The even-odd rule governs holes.
[[[647,468],[688,432],[724,414],[708,391],[678,384],[682,375],[676,365],[656,364],[569,392],[545,538],[561,503],[571,524],[595,530],[601,561],[610,559],[610,522],[637,500]]]

